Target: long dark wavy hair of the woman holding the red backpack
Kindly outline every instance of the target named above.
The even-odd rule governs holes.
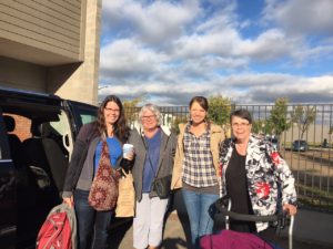
[[[99,111],[98,111],[98,117],[97,117],[97,126],[100,132],[100,135],[107,133],[107,124],[104,118],[104,108],[108,105],[109,102],[114,102],[120,112],[119,112],[119,118],[113,125],[113,133],[120,139],[122,143],[127,142],[129,137],[129,127],[127,126],[125,117],[124,117],[124,110],[122,106],[122,103],[120,98],[115,95],[109,95],[104,98],[104,101],[101,103]]]

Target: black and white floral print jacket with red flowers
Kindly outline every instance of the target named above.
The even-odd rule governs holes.
[[[220,149],[222,197],[228,194],[225,170],[233,148],[234,141],[225,139]],[[254,215],[274,215],[279,206],[281,207],[283,204],[296,205],[293,174],[270,142],[251,134],[246,149],[245,170]],[[268,228],[266,222],[256,222],[258,231],[265,228]]]

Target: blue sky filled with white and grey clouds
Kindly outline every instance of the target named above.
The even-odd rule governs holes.
[[[103,0],[100,97],[333,103],[333,0]],[[108,86],[107,86],[108,85]],[[107,86],[107,87],[105,87]]]

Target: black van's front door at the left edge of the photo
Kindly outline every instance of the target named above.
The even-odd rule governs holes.
[[[6,125],[0,110],[0,245],[2,249],[14,248],[16,245],[16,176]]]

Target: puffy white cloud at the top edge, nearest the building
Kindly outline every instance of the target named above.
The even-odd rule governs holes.
[[[115,3],[114,3],[115,2]],[[104,17],[110,22],[127,24],[133,29],[131,33],[150,44],[161,44],[182,34],[184,25],[191,23],[200,11],[198,0],[181,2],[153,1],[104,1]],[[112,23],[110,23],[112,25]]]

